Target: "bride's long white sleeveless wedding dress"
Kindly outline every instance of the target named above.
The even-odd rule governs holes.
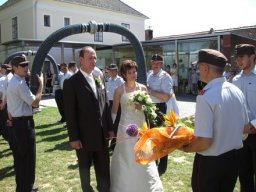
[[[140,165],[135,161],[134,145],[138,137],[130,137],[126,134],[126,127],[130,123],[139,127],[144,121],[143,112],[135,111],[134,105],[128,105],[129,96],[132,93],[124,93],[121,96],[121,119],[117,132],[117,141],[111,160],[111,192],[162,192],[163,186],[160,180],[156,163]]]

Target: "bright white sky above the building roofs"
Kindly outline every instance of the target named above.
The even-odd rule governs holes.
[[[256,0],[121,1],[149,17],[154,37],[256,25]]]

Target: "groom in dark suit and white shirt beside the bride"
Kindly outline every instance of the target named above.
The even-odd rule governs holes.
[[[64,105],[70,145],[76,150],[82,190],[93,191],[90,168],[93,163],[97,189],[109,192],[108,138],[114,136],[106,90],[101,77],[94,77],[96,52],[90,47],[79,54],[81,69],[64,82]]]

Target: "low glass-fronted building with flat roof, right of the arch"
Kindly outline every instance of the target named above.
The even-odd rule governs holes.
[[[150,69],[150,59],[153,54],[161,54],[164,57],[164,68],[178,66],[179,92],[187,92],[189,69],[196,69],[198,51],[200,49],[215,49],[225,54],[228,62],[236,70],[232,57],[234,47],[240,43],[250,43],[256,46],[256,26],[247,26],[233,29],[198,32],[192,34],[175,35],[168,37],[152,38],[142,42],[146,66]],[[114,45],[115,62],[123,59],[135,59],[133,48],[129,44]]]

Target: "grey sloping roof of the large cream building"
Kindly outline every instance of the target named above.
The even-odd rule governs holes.
[[[7,8],[21,0],[8,0],[2,6],[0,6],[0,10]],[[94,7],[98,9],[104,9],[114,12],[120,12],[123,14],[134,15],[137,17],[142,17],[144,19],[149,19],[146,15],[140,13],[139,11],[133,9],[129,5],[125,4],[120,0],[56,0],[63,3],[71,3],[71,4],[78,4],[84,5],[88,7]]]

